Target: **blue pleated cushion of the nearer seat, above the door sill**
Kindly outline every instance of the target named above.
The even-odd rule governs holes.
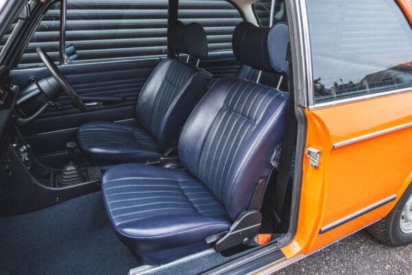
[[[102,192],[115,232],[149,265],[205,250],[207,236],[231,225],[218,199],[184,170],[122,164],[106,171]]]

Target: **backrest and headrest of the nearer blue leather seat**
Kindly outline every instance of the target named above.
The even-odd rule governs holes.
[[[244,22],[233,34],[233,50],[238,61],[255,69],[286,74],[288,41],[286,24],[269,29]],[[220,78],[183,127],[179,140],[183,165],[218,197],[233,220],[249,206],[258,181],[270,173],[287,106],[285,92],[239,78]]]

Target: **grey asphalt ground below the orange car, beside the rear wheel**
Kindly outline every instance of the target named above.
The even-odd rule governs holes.
[[[292,274],[412,275],[412,244],[390,248],[362,230],[275,273]]]

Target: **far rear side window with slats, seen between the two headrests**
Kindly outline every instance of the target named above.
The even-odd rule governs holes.
[[[178,17],[183,23],[203,25],[209,52],[231,51],[233,31],[243,21],[239,11],[225,0],[180,0]]]

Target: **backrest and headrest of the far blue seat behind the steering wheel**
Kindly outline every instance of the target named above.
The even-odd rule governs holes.
[[[198,23],[176,21],[168,36],[175,50],[207,57],[206,33]],[[209,72],[177,58],[164,58],[150,74],[137,98],[136,114],[141,126],[157,139],[161,153],[176,145],[179,129],[210,81]]]

